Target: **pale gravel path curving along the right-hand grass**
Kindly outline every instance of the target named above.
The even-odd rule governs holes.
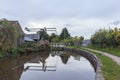
[[[106,53],[106,52],[102,52],[102,51],[98,51],[98,50],[94,50],[94,49],[90,49],[90,48],[84,48],[84,49],[87,49],[87,50],[90,50],[90,51],[93,51],[93,52],[97,52],[99,54],[103,54],[109,58],[111,58],[113,61],[115,61],[118,65],[120,65],[120,57],[118,56],[114,56],[110,53]]]

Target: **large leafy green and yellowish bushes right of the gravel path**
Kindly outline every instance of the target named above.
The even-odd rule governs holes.
[[[93,45],[101,47],[117,47],[120,46],[120,30],[114,29],[100,29],[91,37]]]

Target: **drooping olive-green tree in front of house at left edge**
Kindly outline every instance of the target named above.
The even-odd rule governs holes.
[[[0,21],[0,50],[6,51],[18,47],[22,36],[19,26],[4,19]]]

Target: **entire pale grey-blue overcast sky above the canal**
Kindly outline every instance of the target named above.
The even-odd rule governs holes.
[[[24,27],[67,27],[89,39],[100,28],[119,27],[120,0],[0,0],[0,18]]]

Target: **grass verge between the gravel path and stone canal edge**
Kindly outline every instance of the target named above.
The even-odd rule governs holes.
[[[78,47],[69,47],[69,48],[88,51]],[[88,51],[88,52],[91,52],[91,51]],[[118,66],[112,59],[104,55],[101,55],[95,52],[91,52],[91,53],[95,54],[101,61],[102,63],[101,69],[102,69],[105,80],[120,80],[120,66]]]

